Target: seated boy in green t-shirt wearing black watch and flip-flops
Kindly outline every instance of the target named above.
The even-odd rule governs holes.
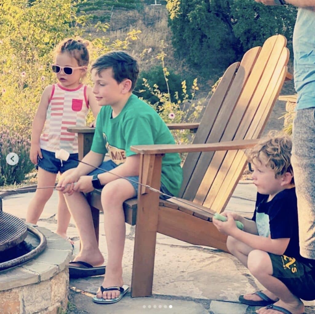
[[[93,299],[97,303],[117,302],[129,288],[123,285],[122,278],[126,232],[123,202],[138,193],[136,182],[139,181],[140,164],[140,155],[130,151],[130,146],[175,144],[157,112],[132,94],[138,73],[137,61],[123,51],[105,54],[92,65],[93,93],[102,108],[97,117],[91,150],[83,161],[110,170],[112,174],[79,163],[77,168],[65,171],[58,183],[62,186],[58,189],[66,193],[66,202],[82,244],[80,253],[69,265],[70,277],[105,273],[105,266],[98,266],[104,263],[104,258],[96,242],[89,204],[82,193],[93,191],[94,188],[102,189],[108,260],[104,281]],[[106,153],[110,160],[103,162]],[[181,183],[179,155],[165,154],[161,191],[178,195]]]

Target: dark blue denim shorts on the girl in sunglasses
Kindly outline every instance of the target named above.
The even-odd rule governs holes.
[[[37,157],[38,164],[35,166],[36,169],[40,167],[48,172],[57,174],[58,171],[63,173],[68,169],[76,168],[78,165],[78,162],[76,161],[79,159],[78,154],[70,154],[69,159],[67,161],[62,161],[61,163],[61,160],[55,157],[55,153],[53,151],[46,151],[44,149],[41,149],[41,151],[43,158],[39,158],[39,156]]]

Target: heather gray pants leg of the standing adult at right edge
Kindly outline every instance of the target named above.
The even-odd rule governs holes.
[[[298,202],[300,253],[315,259],[315,108],[296,111],[291,163]]]

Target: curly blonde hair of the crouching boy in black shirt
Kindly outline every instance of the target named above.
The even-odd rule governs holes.
[[[289,172],[293,176],[291,165],[292,141],[288,134],[282,131],[270,131],[268,135],[261,139],[249,152],[249,163],[266,164],[272,168],[275,177],[284,175]],[[291,183],[294,183],[293,177]]]

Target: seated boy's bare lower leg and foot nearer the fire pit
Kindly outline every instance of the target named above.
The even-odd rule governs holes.
[[[104,257],[101,254],[95,237],[90,206],[82,192],[72,195],[64,194],[66,204],[76,222],[81,240],[81,251],[74,260],[87,262],[93,266],[102,265]]]

